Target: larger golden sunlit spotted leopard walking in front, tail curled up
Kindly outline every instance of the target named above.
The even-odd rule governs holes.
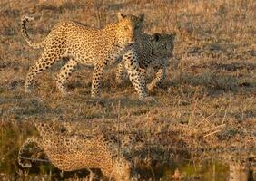
[[[103,71],[122,61],[139,98],[146,98],[148,95],[146,88],[143,87],[143,78],[134,51],[134,37],[138,32],[136,29],[142,24],[143,16],[143,14],[135,16],[119,12],[118,21],[106,24],[103,28],[94,28],[72,21],[60,22],[54,25],[41,43],[34,43],[27,33],[26,23],[34,21],[34,17],[25,16],[21,24],[25,42],[34,49],[44,49],[41,57],[29,68],[25,78],[25,92],[32,92],[34,78],[39,73],[50,68],[54,62],[65,58],[68,61],[56,76],[56,87],[62,95],[70,94],[64,84],[71,77],[78,63],[82,63],[94,66],[91,97],[100,97]]]

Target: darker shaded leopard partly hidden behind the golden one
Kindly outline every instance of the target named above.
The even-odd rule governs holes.
[[[136,33],[136,42],[134,44],[138,55],[143,86],[148,91],[155,90],[166,79],[167,61],[173,57],[174,41],[176,33]],[[152,67],[155,72],[155,78],[146,85],[147,69]],[[124,78],[123,63],[119,63],[116,70],[116,81],[118,84],[123,82]]]

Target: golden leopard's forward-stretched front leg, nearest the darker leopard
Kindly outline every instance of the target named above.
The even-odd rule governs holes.
[[[133,49],[130,49],[123,55],[123,61],[125,68],[128,72],[129,79],[132,81],[133,87],[139,94],[140,100],[143,100],[148,96],[145,88],[145,84],[143,83],[143,76],[140,72],[139,63],[137,61],[136,52]]]

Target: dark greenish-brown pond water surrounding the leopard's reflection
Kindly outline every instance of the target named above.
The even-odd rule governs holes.
[[[11,124],[11,123],[10,123]],[[26,126],[8,126],[1,130],[0,180],[64,180],[84,178],[87,170],[62,172],[41,157],[33,162],[33,167],[22,168],[17,163],[19,147],[25,138],[37,135],[36,131]],[[150,150],[150,149],[149,149]],[[206,180],[206,181],[252,181],[256,178],[255,155],[238,153],[213,153],[211,151],[191,152],[189,150],[170,150],[170,158],[166,160],[143,160],[136,164],[136,172],[140,180]],[[253,151],[252,151],[253,152]],[[255,153],[255,150],[254,152]],[[152,152],[155,154],[155,152]],[[161,154],[159,152],[159,154]],[[148,152],[151,157],[151,152]],[[240,155],[240,156],[238,156]],[[45,160],[45,161],[44,161]],[[103,177],[99,170],[94,170],[94,177]]]

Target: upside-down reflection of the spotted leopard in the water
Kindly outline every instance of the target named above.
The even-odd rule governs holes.
[[[22,167],[32,167],[31,162],[24,160],[24,155],[34,150],[43,152],[54,167],[62,171],[100,168],[110,179],[125,181],[139,178],[117,138],[97,130],[91,130],[90,134],[70,131],[56,120],[36,120],[34,126],[39,136],[27,138],[19,149],[18,163]]]

